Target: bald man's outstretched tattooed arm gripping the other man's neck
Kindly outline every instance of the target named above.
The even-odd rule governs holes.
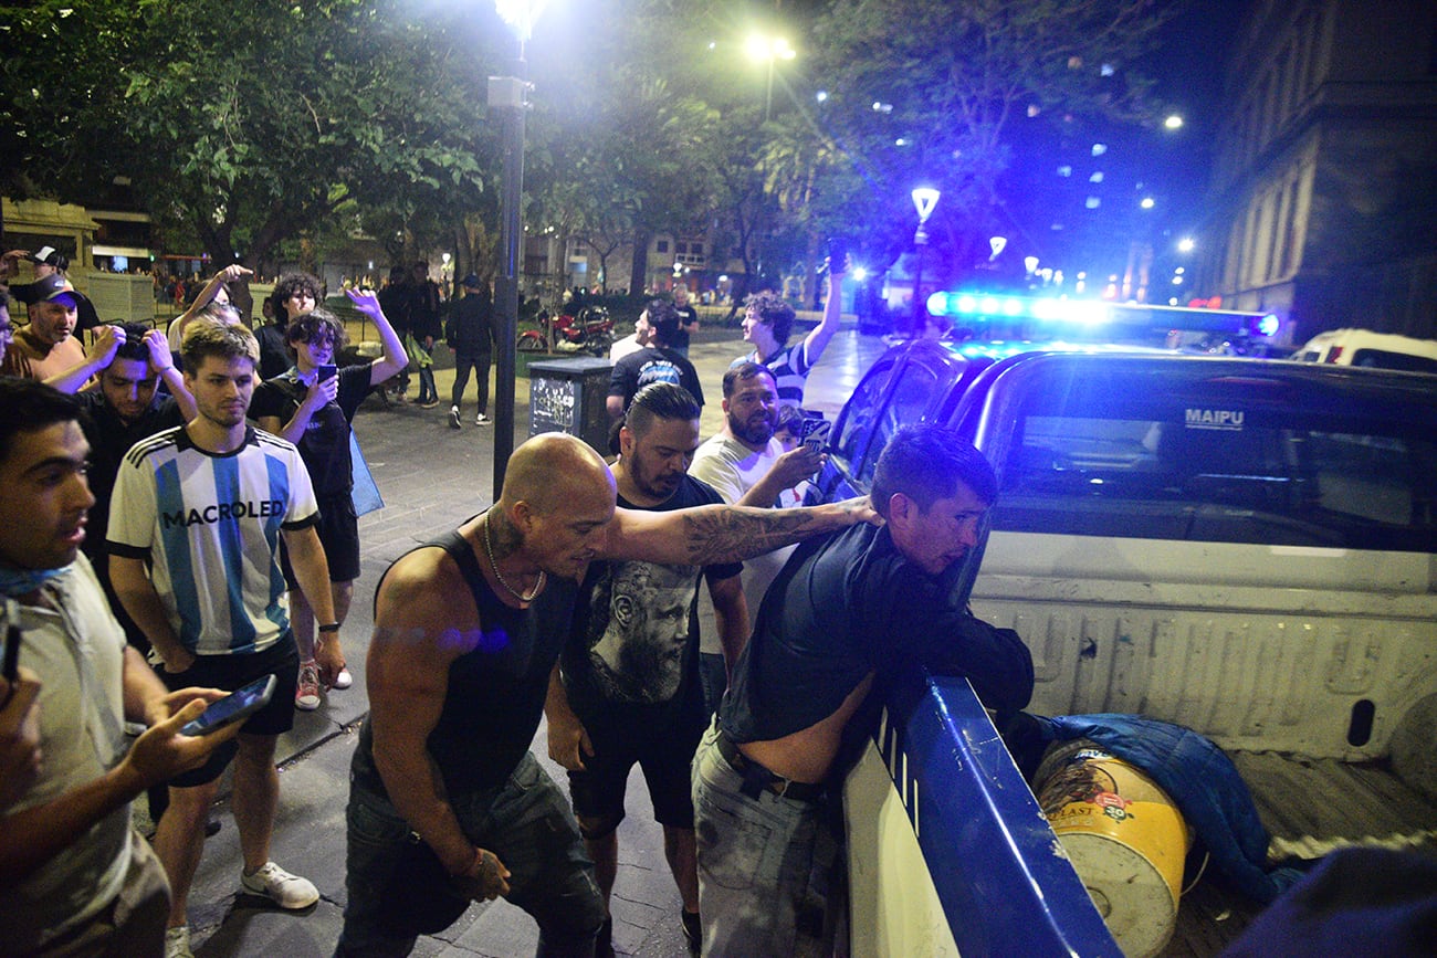
[[[867,496],[809,508],[701,506],[673,513],[619,508],[598,557],[708,566],[741,562],[856,523],[881,521]]]

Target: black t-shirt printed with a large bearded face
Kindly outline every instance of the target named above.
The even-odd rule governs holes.
[[[711,506],[723,497],[685,475],[660,506],[624,508],[667,513]],[[581,720],[614,705],[701,704],[698,685],[698,582],[731,579],[741,563],[661,566],[593,562],[579,587],[573,628],[559,659],[569,705]]]

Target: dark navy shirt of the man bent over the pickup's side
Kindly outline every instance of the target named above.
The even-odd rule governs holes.
[[[869,672],[884,685],[912,666],[967,676],[999,711],[1033,694],[1016,632],[954,608],[887,527],[854,526],[800,544],[769,586],[718,721],[734,741],[782,738],[836,712]]]

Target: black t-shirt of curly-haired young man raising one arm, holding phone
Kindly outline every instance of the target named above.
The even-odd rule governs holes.
[[[345,496],[354,488],[352,461],[349,455],[349,424],[354,422],[359,404],[369,395],[369,375],[374,363],[356,363],[339,371],[339,396],[325,404],[309,419],[305,435],[300,437],[299,455],[309,470],[309,481],[315,496]],[[276,417],[280,425],[295,418],[295,411],[305,401],[309,386],[293,372],[260,383],[250,404],[250,418]]]

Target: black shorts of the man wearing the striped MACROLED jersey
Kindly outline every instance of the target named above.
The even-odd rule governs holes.
[[[293,632],[285,632],[279,642],[253,655],[200,655],[194,665],[184,672],[167,672],[161,666],[155,666],[155,671],[171,692],[191,685],[231,691],[273,672],[274,697],[269,705],[250,715],[240,725],[240,731],[250,735],[279,735],[295,727],[299,649],[295,646]],[[214,781],[234,761],[234,753],[239,748],[239,744],[231,738],[210,753],[210,758],[203,766],[175,776],[168,784],[177,789],[191,789]]]

